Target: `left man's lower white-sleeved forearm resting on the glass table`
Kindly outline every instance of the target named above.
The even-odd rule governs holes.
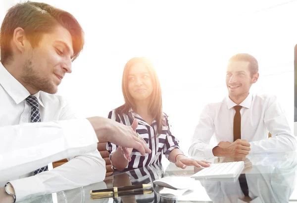
[[[35,176],[12,180],[16,200],[69,190],[100,182],[105,178],[105,162],[98,150],[71,159],[60,167]]]

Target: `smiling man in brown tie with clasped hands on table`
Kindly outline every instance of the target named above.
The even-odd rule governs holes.
[[[249,93],[258,77],[258,62],[253,56],[236,54],[230,58],[226,72],[229,96],[204,107],[189,148],[191,156],[246,157],[249,153],[296,149],[295,136],[276,97]],[[218,144],[209,144],[212,136]]]

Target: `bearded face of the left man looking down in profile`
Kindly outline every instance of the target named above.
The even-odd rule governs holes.
[[[39,45],[28,49],[21,80],[35,91],[57,92],[66,72],[71,73],[73,55],[71,34],[56,26],[50,34],[43,34]]]

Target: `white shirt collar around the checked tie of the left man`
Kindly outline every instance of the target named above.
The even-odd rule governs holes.
[[[0,63],[0,85],[16,104],[23,102],[30,96],[29,91],[4,68],[2,63]],[[37,97],[38,102],[44,107],[44,104],[41,102],[40,92],[37,92],[34,96]]]

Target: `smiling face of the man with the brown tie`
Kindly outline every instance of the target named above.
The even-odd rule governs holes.
[[[252,83],[255,83],[257,73],[251,76],[249,62],[231,61],[226,72],[226,85],[229,97],[238,97],[248,94]]]

